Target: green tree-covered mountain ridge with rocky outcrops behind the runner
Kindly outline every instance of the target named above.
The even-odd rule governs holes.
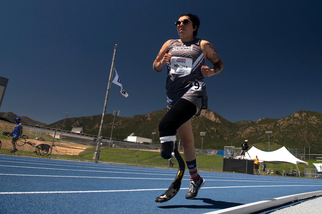
[[[131,133],[135,133],[135,136],[153,138],[153,143],[156,144],[158,143],[158,124],[165,113],[166,108],[128,118],[116,116],[112,137],[125,139]],[[102,136],[109,138],[114,116],[105,114],[104,118]],[[63,121],[59,120],[45,127],[62,129]],[[100,121],[101,115],[66,118],[64,130],[70,131],[73,127],[83,127],[84,133],[96,136]],[[250,145],[255,143],[268,145],[269,136],[265,131],[272,131],[271,143],[291,148],[322,149],[322,114],[314,111],[297,111],[281,119],[260,118],[257,121],[243,120],[233,123],[216,112],[206,109],[200,116],[192,118],[192,124],[196,148],[203,146],[203,148],[223,149],[224,146],[231,145],[240,147],[244,139],[248,139]],[[152,132],[156,132],[156,135],[153,136]],[[206,135],[202,138],[199,132],[206,132]]]

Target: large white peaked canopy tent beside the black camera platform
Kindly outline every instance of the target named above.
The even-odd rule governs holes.
[[[259,150],[256,147],[251,147],[251,149],[248,150],[248,154],[245,154],[244,159],[248,160],[253,160],[257,155],[257,158],[259,159],[259,162],[270,162],[274,163],[274,168],[275,164],[280,164],[280,163],[290,163],[290,164],[296,164],[297,170],[296,173],[300,175],[300,171],[298,170],[298,164],[301,165],[308,165],[308,162],[302,161],[295,156],[293,156],[285,147],[279,148],[276,151],[272,152],[265,152],[262,150]],[[291,168],[292,170],[292,168]],[[285,171],[286,171],[286,165],[285,165]]]

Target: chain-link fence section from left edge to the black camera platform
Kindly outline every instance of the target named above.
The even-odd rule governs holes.
[[[22,125],[23,135],[15,143],[18,150],[12,153],[14,149],[13,136],[8,135],[14,127],[13,123],[0,121],[0,154],[119,165],[178,167],[175,158],[171,163],[170,160],[161,158],[160,145],[98,138],[92,135],[31,125]],[[97,151],[99,152],[97,153]],[[182,148],[180,151],[182,153]],[[196,161],[199,170],[222,171],[223,156],[218,156],[217,150],[196,149]]]

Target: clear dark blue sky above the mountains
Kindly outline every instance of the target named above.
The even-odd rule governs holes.
[[[0,112],[46,124],[102,114],[115,44],[129,96],[112,84],[106,113],[165,108],[166,69],[152,63],[183,13],[199,16],[197,37],[224,63],[205,78],[210,110],[232,122],[322,112],[322,1],[298,0],[3,0]]]

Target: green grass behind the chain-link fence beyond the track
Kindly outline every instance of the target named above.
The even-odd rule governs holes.
[[[18,148],[19,149],[19,148]],[[51,158],[55,159],[66,159],[66,160],[77,160],[77,161],[89,161],[94,162],[93,159],[96,147],[91,146],[86,150],[83,150],[79,155],[56,155],[52,154]],[[11,149],[1,148],[1,154],[10,154]],[[139,150],[137,158],[137,149],[126,149],[126,148],[111,148],[111,147],[101,147],[99,162],[101,163],[111,163],[111,164],[123,164],[123,165],[138,165],[147,167],[160,167],[168,168],[168,160],[161,158],[160,152]],[[23,151],[18,150],[14,155],[19,156],[30,156],[30,157],[43,157],[49,158],[49,156],[39,156],[33,151]],[[181,154],[183,156],[183,154]],[[304,168],[313,169],[312,163],[318,163],[317,161],[308,161],[308,166],[298,165],[298,169],[304,174]],[[178,163],[174,158],[173,161],[174,168],[178,167]],[[196,154],[197,168],[199,171],[209,171],[209,172],[222,172],[223,156],[208,155],[208,154]],[[296,169],[294,164],[272,164],[267,163],[267,170],[279,171],[282,174],[283,170],[289,173],[290,168]],[[262,173],[262,163],[260,163],[260,173]],[[275,175],[274,175],[275,176]],[[277,176],[277,175],[276,175]]]

